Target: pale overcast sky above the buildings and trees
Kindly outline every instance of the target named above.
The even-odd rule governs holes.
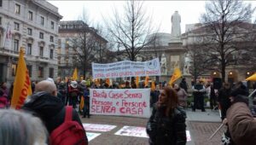
[[[62,20],[78,20],[83,14],[83,8],[90,17],[92,25],[103,25],[103,17],[111,17],[113,9],[122,11],[125,1],[53,1],[59,8]],[[152,15],[155,26],[160,26],[160,32],[171,33],[171,16],[177,10],[181,15],[181,29],[185,32],[186,24],[198,23],[200,15],[205,12],[205,1],[144,1],[143,7],[147,14]],[[256,5],[256,2],[250,2]]]

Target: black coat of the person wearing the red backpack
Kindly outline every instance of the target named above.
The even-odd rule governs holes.
[[[65,106],[61,102],[61,99],[51,96],[44,91],[30,96],[22,109],[42,119],[49,134],[61,125],[65,119]],[[73,120],[83,126],[79,119],[79,114],[74,109]]]

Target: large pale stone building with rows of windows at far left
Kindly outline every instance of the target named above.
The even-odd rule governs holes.
[[[14,81],[20,47],[31,80],[57,76],[58,8],[45,0],[0,0],[0,82]]]

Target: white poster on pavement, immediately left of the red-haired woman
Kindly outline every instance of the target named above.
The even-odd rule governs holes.
[[[147,137],[147,132],[145,127],[137,126],[124,126],[119,131],[115,132],[115,135],[119,136],[136,136],[136,137]]]

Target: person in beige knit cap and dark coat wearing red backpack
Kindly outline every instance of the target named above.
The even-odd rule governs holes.
[[[51,145],[88,144],[79,114],[72,107],[65,107],[54,83],[43,80],[36,84],[35,94],[27,97],[22,109],[42,119]]]

